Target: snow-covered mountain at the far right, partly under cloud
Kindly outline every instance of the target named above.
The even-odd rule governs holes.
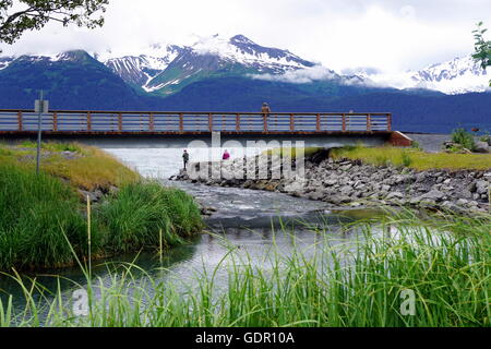
[[[458,95],[489,91],[491,73],[483,70],[472,56],[455,58],[451,61],[432,64],[420,71],[385,74],[376,71],[356,72],[367,84],[388,86],[399,89],[424,88]]]

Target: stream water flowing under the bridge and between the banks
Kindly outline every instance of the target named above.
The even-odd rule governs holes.
[[[332,213],[322,202],[292,197],[282,193],[253,191],[236,188],[205,186],[187,182],[169,181],[181,167],[181,152],[177,148],[107,148],[120,160],[136,169],[145,177],[156,178],[164,185],[178,186],[204,206],[216,209],[206,218],[211,234],[202,234],[190,243],[165,252],[160,258],[156,252],[145,252],[137,256],[122,255],[94,263],[93,274],[109,282],[108,268],[111,262],[135,262],[142,269],[156,278],[172,278],[179,280],[195,280],[204,275],[213,274],[219,267],[216,279],[218,284],[227,285],[226,265],[223,258],[230,249],[237,251],[238,257],[244,263],[252,263],[263,269],[271,266],[268,255],[275,253],[289,256],[294,251],[301,250],[304,255],[315,253],[315,248],[323,243],[323,238],[314,233],[315,227],[326,231],[332,238],[330,243],[345,244],[358,236],[356,231],[346,233],[340,226],[344,220],[355,220],[360,212]],[[241,149],[229,149],[232,157],[254,155],[262,149],[244,153]],[[206,149],[190,149],[191,160],[206,159]],[[356,215],[352,215],[356,214]],[[361,213],[361,216],[373,216],[375,213]],[[164,267],[165,272],[157,269]],[[63,270],[52,270],[68,279],[86,284],[79,267]],[[45,273],[49,274],[49,273]],[[50,276],[38,276],[40,284],[55,291],[57,279]],[[72,282],[61,281],[63,294],[71,297],[75,289]],[[22,309],[23,297],[19,286],[0,278],[0,297],[14,294],[14,306]]]

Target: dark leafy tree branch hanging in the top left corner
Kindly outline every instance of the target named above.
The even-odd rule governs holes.
[[[25,31],[39,31],[48,22],[63,26],[103,26],[109,0],[0,0],[0,41],[15,43]]]

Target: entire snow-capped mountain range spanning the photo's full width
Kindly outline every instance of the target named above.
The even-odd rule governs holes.
[[[420,71],[386,74],[374,69],[337,73],[304,60],[288,50],[264,47],[243,35],[197,37],[191,45],[157,44],[134,51],[107,49],[91,53],[106,69],[133,88],[169,95],[205,79],[242,76],[295,84],[327,83],[359,87],[419,88],[445,94],[489,91],[491,73],[471,56],[429,65]],[[87,52],[73,50],[53,55],[0,57],[0,71],[17,60],[81,62]],[[101,68],[104,69],[104,65]]]

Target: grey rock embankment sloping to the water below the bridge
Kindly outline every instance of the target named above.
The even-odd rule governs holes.
[[[260,157],[252,159],[258,161]],[[246,159],[247,161],[251,161],[251,158]],[[190,173],[181,171],[170,179],[207,185],[277,191],[323,201],[336,207],[384,204],[444,208],[457,213],[490,209],[491,171],[417,171],[410,168],[372,166],[359,160],[334,160],[325,154],[321,157],[318,154],[306,159],[303,177],[272,179],[271,159],[266,161],[268,161],[267,179],[241,179],[241,170],[244,167],[242,159],[214,163],[215,166],[220,166],[220,178],[203,176],[195,179],[195,176],[190,176],[191,171]],[[203,165],[191,164],[193,169]]]

